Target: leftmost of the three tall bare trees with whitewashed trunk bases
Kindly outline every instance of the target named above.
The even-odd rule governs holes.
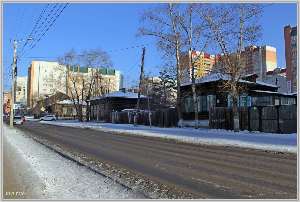
[[[185,43],[182,41],[182,26],[176,18],[176,13],[180,13],[180,4],[168,3],[160,4],[156,8],[148,8],[147,11],[140,13],[142,22],[149,22],[149,26],[139,28],[137,37],[142,35],[152,35],[157,38],[157,47],[176,61],[177,76],[177,109],[179,117],[179,127],[183,126],[181,100],[180,100],[180,65],[179,52],[180,47]],[[174,57],[173,57],[174,56]]]

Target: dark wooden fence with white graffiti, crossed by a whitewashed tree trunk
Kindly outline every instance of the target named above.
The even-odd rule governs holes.
[[[238,107],[240,131],[248,129],[247,106]],[[233,130],[233,107],[209,107],[209,129]]]

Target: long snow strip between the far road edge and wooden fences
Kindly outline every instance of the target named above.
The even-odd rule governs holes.
[[[33,117],[26,117],[26,121],[38,121]],[[96,122],[79,122],[78,120],[44,121],[41,124],[55,124],[69,127],[83,127],[87,129],[110,131],[123,134],[135,134],[151,137],[175,139],[178,141],[203,145],[232,146],[249,149],[270,150],[273,152],[297,153],[297,134],[260,133],[258,131],[241,131],[234,133],[225,130],[208,130],[193,127],[159,128],[132,124],[112,124]]]

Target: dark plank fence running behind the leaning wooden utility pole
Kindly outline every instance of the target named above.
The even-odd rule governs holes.
[[[152,126],[173,127],[178,125],[177,108],[156,109],[151,112],[137,113],[137,124],[149,126],[149,113]],[[133,112],[112,112],[110,120],[111,123],[116,124],[134,124],[134,115]]]

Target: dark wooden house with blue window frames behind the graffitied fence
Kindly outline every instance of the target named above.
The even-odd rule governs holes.
[[[296,104],[297,95],[277,92],[279,86],[256,81],[254,74],[244,75],[239,80],[244,91],[238,95],[238,106],[268,106],[278,104]],[[209,107],[231,107],[232,98],[228,91],[221,90],[222,80],[229,80],[230,75],[215,73],[195,81],[198,118],[208,119]],[[194,102],[191,82],[181,85],[181,102],[183,119],[194,118]]]

